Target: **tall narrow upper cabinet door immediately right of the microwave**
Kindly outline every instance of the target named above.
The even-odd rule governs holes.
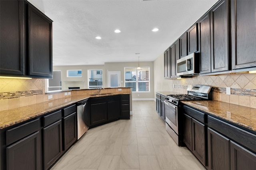
[[[211,72],[210,12],[198,21],[200,73]]]

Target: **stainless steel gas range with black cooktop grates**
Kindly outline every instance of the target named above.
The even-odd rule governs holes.
[[[169,94],[166,96],[165,103],[165,120],[166,131],[178,146],[182,145],[182,114],[180,112],[180,101],[182,100],[212,100],[211,86],[189,85],[188,94]]]

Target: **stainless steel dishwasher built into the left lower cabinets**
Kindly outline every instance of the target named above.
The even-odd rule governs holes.
[[[89,129],[88,115],[90,110],[88,110],[88,99],[82,100],[77,103],[77,139],[80,139],[84,133]]]

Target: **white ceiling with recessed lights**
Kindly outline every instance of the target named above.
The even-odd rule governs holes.
[[[218,0],[28,1],[54,21],[53,65],[63,66],[154,61]]]

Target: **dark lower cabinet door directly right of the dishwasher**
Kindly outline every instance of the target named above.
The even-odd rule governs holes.
[[[108,121],[107,103],[91,104],[91,125]]]

